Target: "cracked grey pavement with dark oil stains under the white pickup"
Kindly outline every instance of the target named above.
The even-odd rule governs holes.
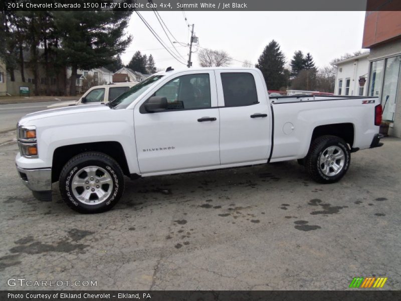
[[[7,139],[6,139],[7,138]],[[0,289],[348,289],[385,276],[401,289],[401,140],[351,156],[336,184],[297,162],[130,181],[113,210],[82,215],[40,202],[0,145]],[[97,286],[8,286],[7,280]]]

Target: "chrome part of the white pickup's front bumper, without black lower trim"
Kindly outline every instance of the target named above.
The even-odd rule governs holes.
[[[26,170],[17,166],[21,181],[32,191],[52,190],[52,169]]]

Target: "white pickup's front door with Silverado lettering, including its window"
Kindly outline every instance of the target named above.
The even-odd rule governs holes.
[[[181,72],[150,96],[167,98],[167,109],[134,109],[135,141],[141,174],[220,165],[219,109],[215,74]]]

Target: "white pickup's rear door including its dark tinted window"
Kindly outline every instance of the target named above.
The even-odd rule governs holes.
[[[256,70],[217,70],[220,111],[220,161],[267,161],[270,109],[264,79]]]

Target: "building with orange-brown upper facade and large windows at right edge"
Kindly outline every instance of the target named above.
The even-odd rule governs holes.
[[[379,97],[388,133],[401,137],[401,12],[391,11],[391,2],[379,9],[365,15],[362,47],[370,50],[366,95]]]

